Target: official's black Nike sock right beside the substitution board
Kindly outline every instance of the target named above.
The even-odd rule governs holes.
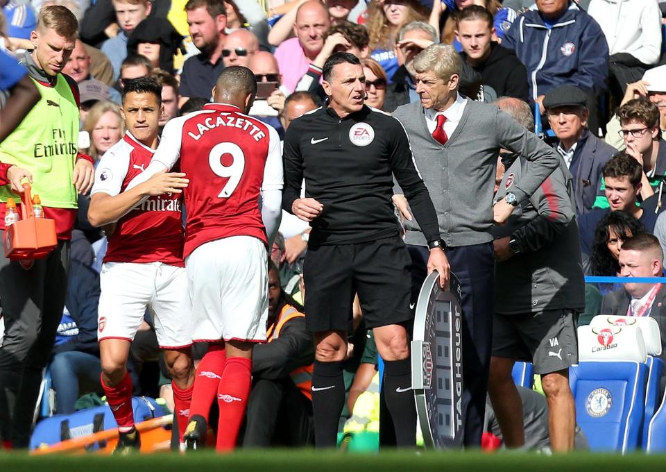
[[[411,389],[411,360],[384,361],[384,398],[395,425],[398,447],[416,446],[416,403]],[[380,420],[381,421],[381,420]]]

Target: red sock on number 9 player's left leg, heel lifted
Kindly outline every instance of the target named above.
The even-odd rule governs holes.
[[[217,395],[217,387],[220,384],[224,371],[225,360],[224,345],[212,344],[201,362],[199,362],[199,366],[196,369],[196,377],[194,378],[192,400],[189,404],[190,418],[198,414],[208,421],[210,407],[212,407]]]

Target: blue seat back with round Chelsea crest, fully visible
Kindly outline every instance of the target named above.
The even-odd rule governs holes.
[[[590,450],[640,446],[648,367],[640,362],[581,362],[570,369],[576,420]]]

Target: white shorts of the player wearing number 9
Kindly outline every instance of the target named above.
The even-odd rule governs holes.
[[[185,259],[194,342],[266,341],[268,253],[251,236],[207,242]]]

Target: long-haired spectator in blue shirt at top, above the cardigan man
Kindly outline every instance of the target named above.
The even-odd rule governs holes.
[[[427,19],[425,8],[416,0],[373,0],[368,6],[366,27],[370,35],[370,57],[386,72],[388,83],[398,70],[395,40],[400,28]]]

